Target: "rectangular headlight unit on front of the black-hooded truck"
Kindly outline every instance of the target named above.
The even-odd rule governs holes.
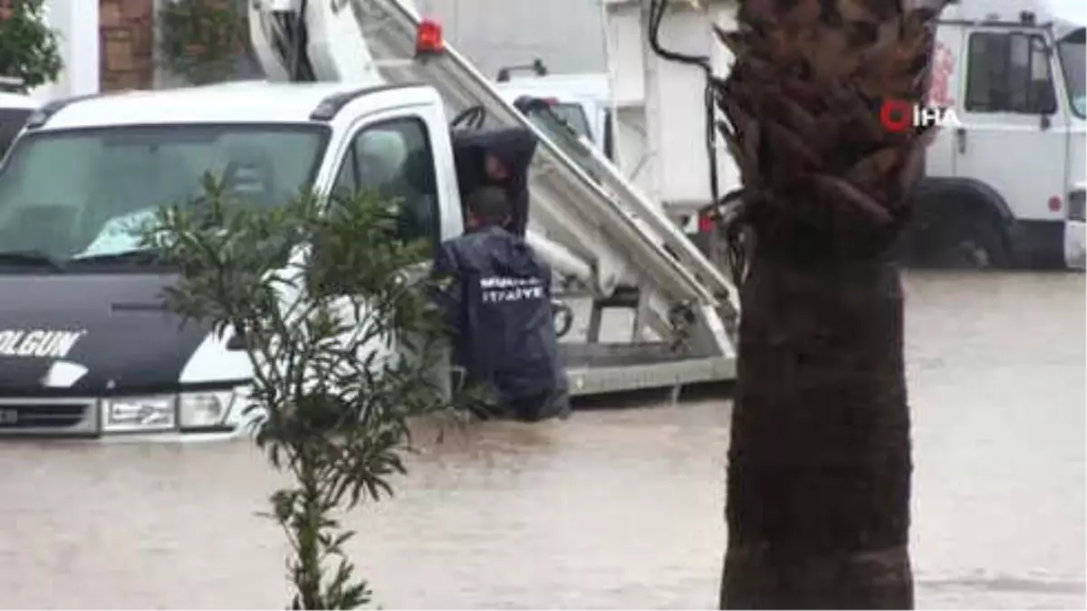
[[[157,432],[217,426],[226,417],[233,396],[230,391],[212,391],[102,399],[102,431]]]

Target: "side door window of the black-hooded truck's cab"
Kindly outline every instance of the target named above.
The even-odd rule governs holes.
[[[440,240],[438,186],[426,124],[395,119],[363,128],[337,177],[336,189],[372,192],[396,207],[398,237]]]

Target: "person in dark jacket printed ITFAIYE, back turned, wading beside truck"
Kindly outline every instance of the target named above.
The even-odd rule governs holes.
[[[485,412],[535,422],[570,412],[551,311],[551,269],[505,227],[510,201],[484,186],[467,199],[467,233],[441,245],[436,298],[453,362],[489,395]]]

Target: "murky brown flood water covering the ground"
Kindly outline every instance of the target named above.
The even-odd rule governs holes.
[[[1087,610],[1087,275],[911,274],[921,610]],[[389,611],[714,608],[728,406],[479,425],[359,510]],[[270,611],[247,442],[0,444],[0,608]]]

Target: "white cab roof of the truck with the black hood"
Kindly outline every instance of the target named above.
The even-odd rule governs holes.
[[[38,128],[171,123],[309,123],[332,120],[340,108],[364,97],[375,98],[376,107],[440,102],[434,89],[422,85],[249,80],[59,100],[45,107],[46,122]]]

